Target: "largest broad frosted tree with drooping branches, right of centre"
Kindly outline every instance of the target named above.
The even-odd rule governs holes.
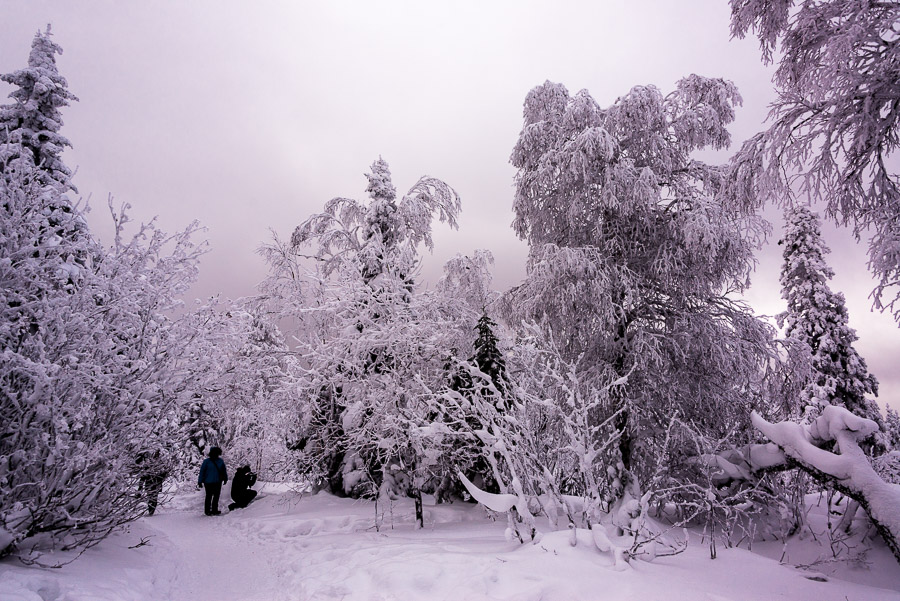
[[[513,225],[530,253],[506,313],[540,324],[580,385],[611,396],[588,415],[614,416],[616,452],[598,459],[614,469],[599,486],[622,506],[670,450],[672,416],[692,424],[686,436],[749,436],[774,357],[772,328],[732,297],[766,226],[750,199],[717,197],[721,168],[691,157],[728,144],[738,102],[730,82],[696,75],[605,109],[550,82],[525,100]]]

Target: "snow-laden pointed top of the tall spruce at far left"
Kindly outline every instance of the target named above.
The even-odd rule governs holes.
[[[62,54],[62,48],[50,39],[48,25],[34,36],[28,66],[0,75],[17,88],[9,95],[14,102],[0,107],[0,145],[17,144],[40,167],[43,183],[56,182],[74,191],[72,171],[61,156],[71,143],[59,133],[63,124],[59,109],[77,98],[56,69],[56,54]]]

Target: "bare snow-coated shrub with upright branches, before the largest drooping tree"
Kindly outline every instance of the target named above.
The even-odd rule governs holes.
[[[538,513],[553,527],[598,523],[609,511],[608,467],[619,437],[610,390],[624,379],[595,386],[598,379],[583,378],[579,366],[565,360],[537,327],[526,329],[506,360],[512,384],[502,403],[489,374],[471,363],[461,366],[469,370],[468,388],[451,387],[436,403],[444,421],[457,424],[458,435],[479,443],[497,492],[510,500],[506,509],[486,505],[513,509],[510,529],[522,541],[537,535]]]

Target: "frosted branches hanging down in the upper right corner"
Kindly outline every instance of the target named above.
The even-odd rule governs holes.
[[[870,234],[869,267],[878,278],[875,306],[900,321],[897,3],[730,3],[732,34],[754,32],[763,59],[778,60],[772,125],[735,157],[732,189],[776,201],[799,189],[824,201],[827,215],[852,224],[857,236]]]

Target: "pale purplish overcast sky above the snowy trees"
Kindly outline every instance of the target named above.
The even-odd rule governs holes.
[[[101,239],[110,194],[138,220],[207,227],[198,297],[251,294],[269,229],[287,236],[329,198],[365,197],[378,156],[398,191],[427,174],[460,194],[460,228],[438,228],[426,276],[487,248],[507,288],[524,276],[509,154],[532,87],[587,88],[606,106],[634,85],[666,93],[690,73],[725,77],[744,97],[733,149],[773,98],[756,41],[729,39],[727,0],[0,0],[0,15],[0,72],[25,65],[47,23],[65,51],[59,70],[80,99],[63,113],[65,160]],[[869,310],[865,249],[828,229],[832,287],[880,400],[900,407],[900,330]],[[748,294],[765,314],[784,309],[779,235]]]

